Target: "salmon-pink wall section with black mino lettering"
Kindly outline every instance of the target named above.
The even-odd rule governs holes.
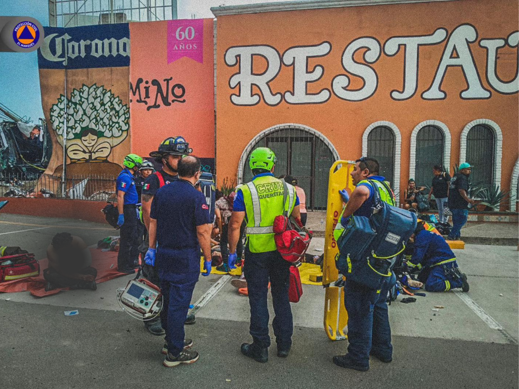
[[[203,63],[184,57],[168,63],[168,21],[130,23],[130,82],[139,78],[150,82],[148,104],[137,103],[130,92],[131,150],[147,157],[169,136],[185,137],[193,154],[214,158],[214,29],[213,20],[203,20]],[[187,41],[189,43],[189,41]],[[161,83],[173,77],[185,88],[185,103],[172,103],[147,109],[155,101],[153,79]],[[143,83],[141,86],[144,95]],[[180,93],[180,90],[176,90]],[[172,100],[172,98],[170,98]]]

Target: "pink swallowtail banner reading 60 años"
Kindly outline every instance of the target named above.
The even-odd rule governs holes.
[[[203,63],[203,19],[168,21],[168,63],[182,57]]]

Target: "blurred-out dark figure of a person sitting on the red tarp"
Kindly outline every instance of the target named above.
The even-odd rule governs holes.
[[[43,276],[47,281],[45,291],[55,288],[97,289],[97,270],[92,268],[92,256],[83,239],[61,232],[52,238],[47,247],[49,267]]]

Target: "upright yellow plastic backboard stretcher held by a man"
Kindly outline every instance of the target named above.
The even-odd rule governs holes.
[[[348,313],[344,307],[344,287],[334,286],[339,277],[335,267],[335,256],[339,254],[333,230],[339,223],[343,210],[343,201],[339,190],[348,189],[351,194],[355,186],[351,182],[350,173],[355,163],[352,161],[336,161],[331,169],[328,182],[328,202],[326,206],[326,228],[324,234],[323,286],[324,297],[324,330],[331,340],[346,339],[344,329],[348,323]]]

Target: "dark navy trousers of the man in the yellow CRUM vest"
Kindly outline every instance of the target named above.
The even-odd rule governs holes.
[[[248,246],[245,247],[245,258],[247,258],[247,265],[243,270],[249,292],[252,339],[262,348],[270,346],[267,305],[270,282],[275,313],[272,327],[274,327],[276,343],[279,349],[289,349],[294,331],[289,301],[290,263],[285,261],[277,251],[251,253]]]

